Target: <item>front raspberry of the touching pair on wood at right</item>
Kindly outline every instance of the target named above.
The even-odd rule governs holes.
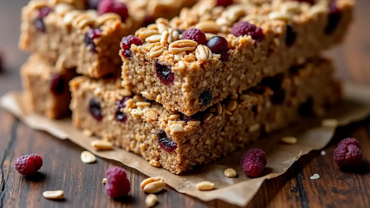
[[[334,151],[334,162],[340,168],[357,167],[362,163],[362,152],[353,144],[340,145]]]

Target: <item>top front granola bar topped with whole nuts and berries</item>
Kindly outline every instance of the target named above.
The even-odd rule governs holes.
[[[122,85],[168,110],[195,114],[340,43],[354,3],[251,2],[225,8],[201,0],[171,21],[140,28],[135,41],[122,38]]]

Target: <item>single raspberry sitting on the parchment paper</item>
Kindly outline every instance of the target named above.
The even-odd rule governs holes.
[[[240,165],[245,174],[258,177],[267,164],[267,155],[260,149],[250,149],[240,159]]]

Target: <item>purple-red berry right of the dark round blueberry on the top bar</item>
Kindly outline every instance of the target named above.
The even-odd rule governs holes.
[[[233,34],[234,36],[251,36],[252,39],[255,40],[257,43],[265,39],[262,28],[256,27],[254,24],[250,24],[249,22],[243,21],[234,24],[234,26],[231,28],[231,34]]]

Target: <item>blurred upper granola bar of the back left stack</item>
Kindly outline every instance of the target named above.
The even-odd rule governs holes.
[[[59,2],[67,3],[59,3]],[[134,32],[157,17],[171,18],[195,0],[110,1],[118,9],[93,6],[79,10],[77,0],[31,0],[22,9],[19,47],[37,53],[50,63],[64,62],[77,72],[100,78],[120,71],[117,55],[123,36]]]

